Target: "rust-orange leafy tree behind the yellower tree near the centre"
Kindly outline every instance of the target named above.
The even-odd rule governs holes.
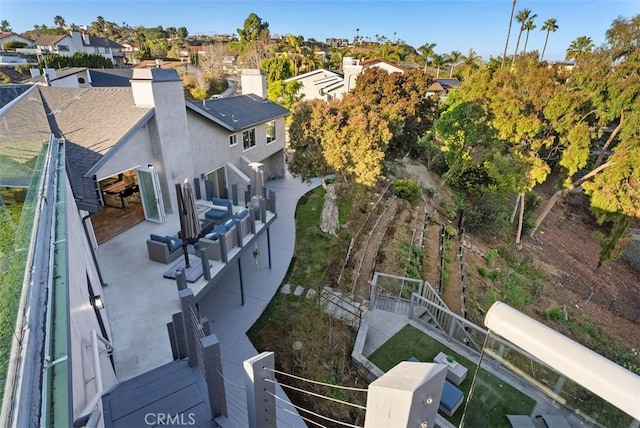
[[[391,158],[417,156],[418,140],[431,128],[437,114],[437,101],[426,96],[431,83],[418,69],[389,74],[371,68],[358,76],[351,94],[389,123],[392,138],[388,155]]]

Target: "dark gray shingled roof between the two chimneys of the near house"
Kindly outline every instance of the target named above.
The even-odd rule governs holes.
[[[229,131],[240,131],[289,114],[289,110],[256,95],[239,95],[187,106]]]

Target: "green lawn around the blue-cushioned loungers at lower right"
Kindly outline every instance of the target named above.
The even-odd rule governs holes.
[[[458,386],[466,398],[471,390],[471,383],[476,372],[476,364],[452,351],[447,346],[421,332],[417,328],[406,325],[398,333],[378,348],[369,360],[382,371],[388,371],[401,361],[415,357],[420,361],[432,362],[439,352],[451,355],[465,366],[469,373]],[[465,425],[470,427],[509,427],[505,415],[529,415],[533,411],[535,401],[522,394],[510,385],[505,384],[492,374],[481,370],[476,380],[474,399],[469,404]],[[462,408],[453,417],[446,418],[459,426],[462,420]]]

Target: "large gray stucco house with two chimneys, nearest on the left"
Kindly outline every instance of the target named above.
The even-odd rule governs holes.
[[[2,418],[15,417],[10,419],[15,426],[71,426],[81,415],[94,417],[102,394],[119,381],[110,357],[110,320],[100,311],[105,284],[92,227],[92,214],[113,202],[103,192],[105,183],[123,176],[132,180],[144,206],[140,221],[162,223],[165,213],[176,213],[175,184],[187,177],[208,179],[213,195],[223,197],[234,184],[240,189],[255,184],[256,172],[284,168],[288,110],[262,98],[263,74],[247,73],[243,80],[251,93],[201,105],[185,101],[175,70],[159,68],[135,69],[130,87],[0,88],[0,185],[32,192],[26,197],[34,205],[25,209],[33,212],[26,218],[39,227],[25,227],[38,236],[26,234],[31,241],[17,246],[33,246],[29,255],[36,259],[27,263],[33,263],[29,270],[37,265],[37,272],[30,280],[45,287],[28,300],[37,316],[24,325],[19,320],[17,328],[44,332],[47,325],[47,334],[58,338],[49,342],[49,336],[33,334],[14,343]],[[254,170],[258,162],[262,168]],[[264,217],[262,222],[267,224]],[[24,263],[24,257],[16,263]],[[18,361],[27,349],[28,360]],[[42,398],[39,386],[24,385],[59,393]],[[40,409],[40,400],[41,414],[21,412],[16,404],[30,409],[36,403],[33,407]],[[0,425],[11,425],[2,418]]]

